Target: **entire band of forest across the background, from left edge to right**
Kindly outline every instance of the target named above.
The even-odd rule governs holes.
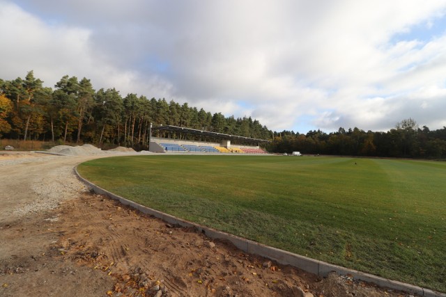
[[[0,79],[0,138],[50,141],[52,143],[93,143],[99,147],[123,145],[137,150],[148,147],[150,124],[174,125],[224,134],[272,141],[269,152],[383,156],[403,158],[446,158],[446,127],[430,130],[408,118],[390,131],[339,128],[326,134],[270,131],[251,117],[225,117],[204,109],[178,104],[174,100],[148,99],[130,93],[123,97],[115,88],[94,90],[85,77],[68,75],[54,88],[29,71],[24,79]],[[158,132],[160,133],[160,132]],[[158,134],[167,137],[172,135]],[[189,139],[193,136],[174,136]],[[216,141],[213,139],[196,139]]]

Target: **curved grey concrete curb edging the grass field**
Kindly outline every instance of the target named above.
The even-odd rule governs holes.
[[[276,261],[279,264],[291,265],[296,268],[300,268],[303,271],[314,273],[315,275],[321,276],[323,278],[327,277],[328,273],[335,271],[340,275],[352,275],[355,280],[362,280],[364,282],[377,284],[379,287],[386,287],[397,291],[405,291],[410,294],[417,294],[419,296],[425,297],[446,297],[446,294],[432,291],[430,289],[424,289],[412,284],[406,284],[404,282],[398,282],[396,280],[389,280],[387,278],[380,278],[379,276],[369,273],[363,273],[361,271],[355,271],[353,269],[318,261],[316,259],[294,254],[293,252],[287,252],[286,250],[280,250],[279,248],[272,248],[271,246],[266,246],[256,241],[251,241],[249,239],[244,239],[242,237],[238,237],[226,232],[221,232],[210,227],[199,225],[197,223],[192,223],[190,221],[177,218],[176,216],[171,216],[170,214],[164,214],[161,211],[157,211],[155,209],[151,209],[150,207],[145,207],[144,205],[125,199],[103,188],[100,188],[100,186],[97,186],[92,182],[89,182],[87,179],[84,179],[84,177],[79,175],[79,172],[77,172],[77,166],[75,167],[75,172],[79,179],[82,180],[82,182],[88,184],[89,186],[91,186],[91,188],[93,188],[93,191],[95,191],[95,193],[107,195],[114,200],[118,200],[124,205],[129,205],[130,207],[133,207],[134,209],[137,209],[144,214],[155,216],[156,218],[160,218],[167,223],[180,225],[182,227],[195,227],[197,228],[197,230],[199,230],[199,232],[206,234],[206,236],[212,239],[224,239],[230,241],[231,243],[233,243],[234,246],[236,246],[240,250],[243,250],[243,252],[246,252],[247,254],[266,257],[268,259]]]

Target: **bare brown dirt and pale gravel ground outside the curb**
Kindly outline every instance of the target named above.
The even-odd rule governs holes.
[[[246,255],[90,193],[100,156],[0,152],[0,296],[410,296]]]

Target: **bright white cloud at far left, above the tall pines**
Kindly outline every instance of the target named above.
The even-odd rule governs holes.
[[[45,85],[54,86],[63,75],[87,77],[96,88],[119,87],[125,95],[137,90],[169,94],[171,85],[156,76],[144,78],[135,70],[120,69],[102,58],[93,46],[91,29],[52,26],[13,3],[0,1],[0,47],[2,79],[24,77],[34,70]]]

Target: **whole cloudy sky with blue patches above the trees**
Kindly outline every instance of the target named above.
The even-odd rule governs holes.
[[[446,126],[444,0],[0,0],[0,79],[33,70],[273,131]]]

